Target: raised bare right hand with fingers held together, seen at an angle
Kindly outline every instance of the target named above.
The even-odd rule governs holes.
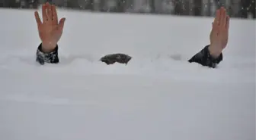
[[[217,58],[222,50],[226,48],[229,40],[229,16],[225,8],[216,11],[216,17],[213,21],[213,28],[210,33],[210,54]]]

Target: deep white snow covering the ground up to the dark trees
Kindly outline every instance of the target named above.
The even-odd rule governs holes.
[[[254,140],[256,21],[232,19],[216,69],[187,60],[213,18],[59,10],[59,64],[40,66],[34,11],[1,9],[1,140]],[[107,66],[105,54],[129,64]]]

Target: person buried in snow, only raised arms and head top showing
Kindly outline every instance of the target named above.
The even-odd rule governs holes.
[[[40,64],[59,63],[58,42],[62,36],[62,30],[65,18],[58,20],[58,14],[55,5],[46,3],[42,6],[43,21],[35,11],[37,29],[42,43],[37,48],[37,62]],[[229,39],[229,16],[225,8],[216,11],[216,17],[213,21],[210,32],[210,45],[206,45],[201,51],[195,54],[188,62],[198,63],[206,67],[215,68],[222,61],[222,50],[226,48]],[[127,54],[107,54],[101,61],[106,64],[121,63],[127,64],[130,59]]]

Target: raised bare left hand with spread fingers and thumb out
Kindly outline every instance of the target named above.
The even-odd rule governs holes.
[[[43,22],[39,14],[35,11],[34,16],[37,20],[37,28],[42,41],[42,51],[50,52],[56,48],[59,39],[62,36],[62,30],[66,18],[58,20],[58,14],[55,5],[46,3],[42,7]]]

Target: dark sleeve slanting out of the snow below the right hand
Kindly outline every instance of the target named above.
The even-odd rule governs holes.
[[[206,45],[200,52],[194,55],[193,58],[189,60],[190,63],[196,62],[198,64],[201,64],[203,66],[212,67],[215,68],[217,64],[219,64],[220,61],[222,61],[222,54],[219,55],[218,58],[213,58],[210,55],[209,46]]]

